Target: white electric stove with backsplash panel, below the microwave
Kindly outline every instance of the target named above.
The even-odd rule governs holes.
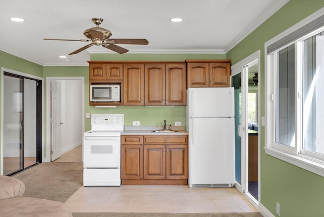
[[[84,133],[84,186],[120,186],[120,133],[124,114],[92,114]]]

